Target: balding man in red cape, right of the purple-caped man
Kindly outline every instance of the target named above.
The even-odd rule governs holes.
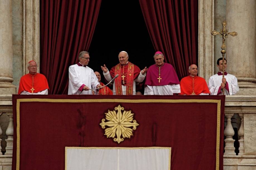
[[[207,83],[204,78],[197,76],[198,68],[196,64],[191,64],[188,68],[189,76],[181,79],[181,95],[209,95]]]

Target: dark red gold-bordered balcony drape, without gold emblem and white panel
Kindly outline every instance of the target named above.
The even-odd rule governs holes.
[[[118,144],[99,125],[121,105],[139,126]],[[13,95],[12,169],[64,169],[69,147],[172,147],[171,169],[223,169],[225,96]]]

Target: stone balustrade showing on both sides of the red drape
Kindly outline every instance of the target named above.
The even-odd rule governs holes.
[[[8,124],[8,127],[5,124]],[[256,96],[226,96],[224,135],[224,169],[256,169]],[[0,169],[11,169],[11,95],[0,95],[0,136]],[[234,144],[235,141],[238,145]]]

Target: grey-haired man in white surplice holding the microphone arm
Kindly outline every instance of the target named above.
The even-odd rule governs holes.
[[[92,94],[92,90],[102,87],[94,71],[87,65],[90,56],[87,51],[81,51],[78,56],[79,63],[69,66],[68,94]],[[97,94],[97,93],[96,93]]]

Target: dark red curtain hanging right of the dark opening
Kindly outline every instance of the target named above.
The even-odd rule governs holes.
[[[142,13],[156,51],[174,66],[179,79],[197,64],[198,0],[140,0]]]

